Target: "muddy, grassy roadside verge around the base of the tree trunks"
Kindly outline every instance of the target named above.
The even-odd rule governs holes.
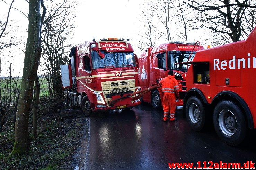
[[[32,135],[30,117],[29,153],[11,154],[14,143],[12,111],[7,114],[5,131],[0,129],[0,169],[76,169],[83,164],[81,149],[86,150],[89,118],[80,108],[65,106],[61,100],[42,99],[38,113],[38,140]],[[82,146],[82,147],[81,147]]]

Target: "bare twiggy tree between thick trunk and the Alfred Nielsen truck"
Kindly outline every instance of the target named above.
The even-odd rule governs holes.
[[[47,12],[43,27],[43,61],[41,68],[48,82],[50,96],[56,97],[62,92],[60,65],[68,63],[70,49],[70,34],[73,30],[74,15],[70,9],[74,4],[68,0],[62,3],[52,2],[52,8]],[[46,70],[45,70],[45,69]]]

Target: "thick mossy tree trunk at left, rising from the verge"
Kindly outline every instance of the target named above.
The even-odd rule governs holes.
[[[37,53],[40,37],[40,3],[41,0],[29,1],[28,38],[24,58],[24,68],[21,81],[20,96],[16,112],[13,154],[28,151],[30,139],[28,132],[28,118],[33,97],[33,85],[37,71]]]

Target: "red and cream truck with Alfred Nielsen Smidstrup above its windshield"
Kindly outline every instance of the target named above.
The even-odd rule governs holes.
[[[91,111],[131,109],[140,99],[109,101],[138,90],[138,59],[126,40],[108,38],[71,49],[69,64],[61,65],[63,100]]]

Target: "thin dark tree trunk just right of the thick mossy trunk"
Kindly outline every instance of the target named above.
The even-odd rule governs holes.
[[[39,95],[40,95],[40,83],[38,81],[38,76],[36,76],[35,81],[35,102],[33,106],[33,134],[34,139],[37,140],[37,111],[39,105]]]

